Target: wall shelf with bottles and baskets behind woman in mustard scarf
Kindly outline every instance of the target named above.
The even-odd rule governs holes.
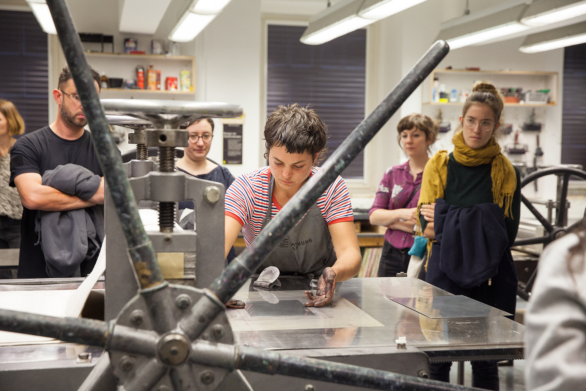
[[[434,99],[434,79],[438,79],[435,88],[439,89],[445,86],[445,93],[448,100],[437,101],[437,94]],[[466,97],[466,92],[472,91],[472,86],[476,81],[490,81],[498,89],[522,90],[522,93],[512,92],[510,97],[506,97],[505,106],[518,107],[548,107],[557,106],[558,101],[558,73],[541,72],[541,71],[515,71],[515,70],[465,70],[465,69],[435,69],[430,74],[430,82],[424,83],[424,96],[429,96],[430,100],[425,105],[462,105]],[[454,97],[453,91],[456,90]],[[537,96],[543,98],[542,102],[535,101],[532,96],[528,101],[524,101],[525,93],[529,91],[547,91],[546,93],[537,93]],[[534,94],[535,95],[535,94]],[[515,98],[516,96],[516,98]],[[456,100],[456,101],[454,101]],[[547,103],[545,103],[547,101]]]

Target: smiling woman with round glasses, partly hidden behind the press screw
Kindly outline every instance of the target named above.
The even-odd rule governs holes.
[[[216,162],[207,158],[207,154],[212,147],[212,138],[214,135],[214,121],[212,118],[203,118],[182,128],[189,131],[189,146],[183,148],[183,157],[176,162],[176,167],[180,172],[195,176],[196,178],[206,179],[206,181],[220,182],[226,189],[234,182],[234,176],[230,171]],[[179,202],[179,211],[182,212],[185,208],[193,209],[193,202],[183,201]],[[190,214],[183,216],[180,219],[180,225],[183,228],[193,229],[194,216]],[[230,249],[230,253],[226,257],[230,262],[236,257],[234,247]]]

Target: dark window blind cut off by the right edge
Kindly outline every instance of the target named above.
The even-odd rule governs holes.
[[[561,162],[586,168],[586,43],[564,52]]]

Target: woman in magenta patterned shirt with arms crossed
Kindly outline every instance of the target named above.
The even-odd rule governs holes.
[[[423,114],[407,115],[397,125],[399,145],[409,160],[387,168],[369,213],[371,224],[387,227],[379,277],[395,277],[407,271],[411,258],[407,251],[413,246],[413,213],[430,145],[435,142],[439,130],[435,121]]]

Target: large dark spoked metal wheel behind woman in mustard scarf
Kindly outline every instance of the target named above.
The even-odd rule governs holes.
[[[547,246],[547,244],[553,242],[554,240],[564,236],[568,232],[572,232],[573,230],[577,229],[582,225],[584,221],[586,221],[586,210],[584,210],[584,217],[577,222],[573,223],[571,226],[567,226],[567,215],[568,215],[568,208],[567,208],[567,198],[568,198],[568,182],[570,181],[570,176],[575,176],[580,179],[584,179],[586,181],[586,171],[582,171],[581,169],[571,168],[571,167],[548,167],[543,168],[538,171],[532,172],[531,174],[527,175],[521,181],[521,188],[523,189],[529,183],[536,181],[539,178],[543,178],[547,175],[556,175],[558,178],[558,191],[557,191],[557,200],[556,200],[556,218],[553,222],[548,221],[539,211],[533,206],[533,204],[523,195],[521,194],[521,201],[527,209],[533,213],[533,216],[541,225],[546,232],[544,236],[541,237],[532,237],[529,239],[521,239],[517,240],[513,246],[525,246],[527,244],[543,244],[543,246]],[[519,287],[517,287],[517,294],[519,297],[523,298],[523,300],[529,300],[531,290],[533,288],[533,283],[535,282],[535,278],[537,277],[537,268],[533,271],[531,277],[527,281],[527,284],[519,283]]]

